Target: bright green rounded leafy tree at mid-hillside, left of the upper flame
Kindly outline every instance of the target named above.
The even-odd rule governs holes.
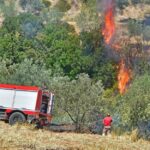
[[[45,61],[54,72],[62,68],[66,75],[75,77],[82,69],[80,39],[67,24],[49,24],[40,37],[47,47]]]

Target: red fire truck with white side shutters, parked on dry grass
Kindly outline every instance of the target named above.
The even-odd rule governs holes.
[[[40,122],[52,119],[54,94],[36,86],[0,84],[0,120]]]

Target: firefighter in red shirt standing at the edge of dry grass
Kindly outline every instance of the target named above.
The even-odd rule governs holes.
[[[108,135],[111,132],[111,123],[112,123],[112,117],[110,114],[107,114],[107,116],[103,119],[103,135]]]

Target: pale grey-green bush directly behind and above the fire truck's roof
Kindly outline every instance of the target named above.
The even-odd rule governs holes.
[[[8,82],[21,85],[42,86],[50,83],[51,70],[46,69],[45,65],[40,62],[25,59],[20,64],[13,65],[13,73],[10,75]]]

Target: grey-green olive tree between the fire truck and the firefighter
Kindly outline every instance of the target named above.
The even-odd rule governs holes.
[[[72,81],[69,78],[53,78],[51,83],[50,88],[56,93],[57,110],[68,114],[77,131],[91,123],[93,113],[96,116],[96,112],[100,112],[101,81],[94,83],[87,74],[80,74]]]

